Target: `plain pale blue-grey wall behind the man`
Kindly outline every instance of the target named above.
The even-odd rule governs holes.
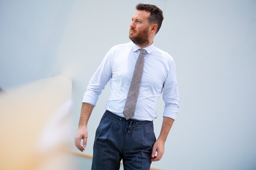
[[[255,169],[253,0],[77,0],[48,1],[48,5],[1,1],[0,87],[15,87],[56,74],[71,77],[75,133],[86,86],[106,52],[116,44],[130,41],[129,24],[139,2],[155,4],[164,12],[165,19],[154,42],[174,58],[180,93],[180,113],[167,138],[164,156],[152,167]],[[47,15],[42,16],[42,10]],[[20,21],[31,16],[37,16],[34,22]],[[22,29],[15,27],[17,23]],[[109,84],[88,124],[87,154],[92,154],[95,130],[108,95]],[[160,98],[158,118],[154,121],[156,136],[163,107]]]

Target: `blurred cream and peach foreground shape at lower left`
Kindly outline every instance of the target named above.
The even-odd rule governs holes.
[[[71,80],[58,76],[1,92],[0,169],[72,169],[71,99]]]

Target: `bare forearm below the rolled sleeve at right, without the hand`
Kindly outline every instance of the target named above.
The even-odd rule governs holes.
[[[166,141],[166,138],[167,138],[168,133],[172,127],[173,122],[174,122],[174,119],[172,119],[172,118],[167,118],[167,117],[163,118],[161,132],[160,132],[160,135],[157,140],[162,140],[163,142]]]

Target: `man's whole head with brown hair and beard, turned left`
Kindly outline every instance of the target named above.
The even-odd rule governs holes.
[[[129,38],[139,46],[147,46],[152,43],[159,31],[163,12],[155,5],[138,4],[132,16]]]

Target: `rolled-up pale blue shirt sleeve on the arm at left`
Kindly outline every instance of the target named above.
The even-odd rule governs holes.
[[[110,49],[105,55],[99,68],[92,76],[84,93],[82,103],[89,103],[93,106],[96,105],[101,91],[105,88],[105,85],[108,83],[112,75],[111,56]]]

